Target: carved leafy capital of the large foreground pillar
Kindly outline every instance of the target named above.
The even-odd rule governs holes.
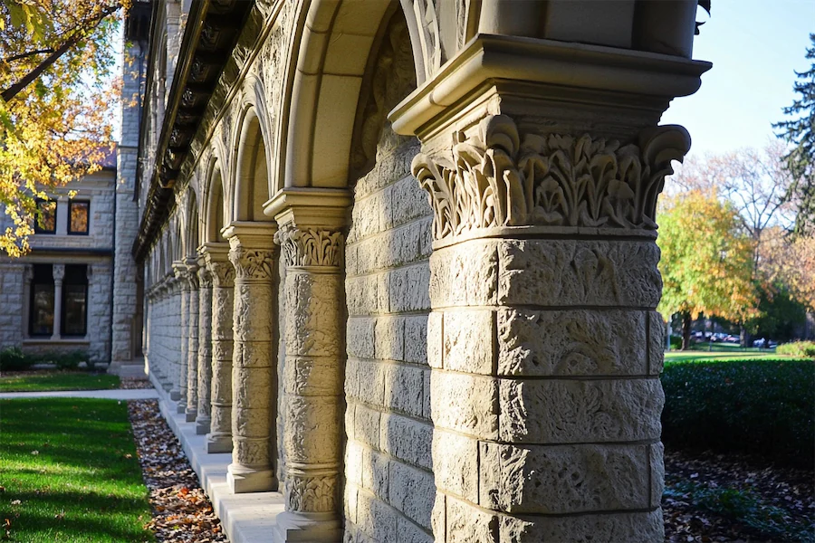
[[[471,135],[454,134],[444,155],[420,153],[413,174],[430,195],[437,240],[503,226],[656,230],[657,195],[690,137],[679,126],[647,129],[638,145],[522,134],[506,115]]]

